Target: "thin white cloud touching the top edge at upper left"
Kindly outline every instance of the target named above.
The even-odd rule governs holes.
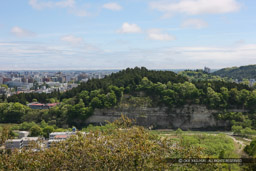
[[[43,9],[43,8],[67,8],[73,7],[75,5],[75,0],[62,0],[62,1],[41,1],[41,0],[29,0],[29,5],[31,5],[35,9]]]

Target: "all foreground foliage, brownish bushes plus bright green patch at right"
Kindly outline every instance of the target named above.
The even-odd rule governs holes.
[[[122,116],[105,126],[89,126],[49,149],[2,151],[0,170],[241,170],[236,164],[179,164],[173,158],[237,157],[225,135],[155,134]],[[35,150],[37,149],[37,150]],[[246,166],[242,166],[244,169]]]

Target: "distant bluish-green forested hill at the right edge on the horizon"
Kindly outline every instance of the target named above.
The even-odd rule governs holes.
[[[229,77],[233,79],[256,79],[256,65],[247,65],[241,67],[223,68],[215,71],[213,75]]]

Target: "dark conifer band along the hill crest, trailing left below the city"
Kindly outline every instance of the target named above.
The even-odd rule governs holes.
[[[91,79],[88,82],[81,83],[78,87],[62,94],[60,94],[58,91],[50,94],[21,93],[9,97],[8,102],[19,102],[26,104],[26,102],[32,102],[33,99],[37,99],[38,102],[46,103],[51,98],[56,98],[62,101],[63,99],[76,96],[83,90],[90,92],[93,90],[102,89],[104,92],[106,92],[109,86],[126,87],[126,92],[129,92],[135,90],[136,86],[140,83],[143,77],[147,77],[153,83],[167,83],[168,81],[178,83],[187,80],[185,77],[179,76],[172,71],[154,71],[147,70],[145,67],[135,67],[134,69],[127,68],[126,70],[122,70],[118,73],[112,73],[110,76],[106,76],[103,79]]]

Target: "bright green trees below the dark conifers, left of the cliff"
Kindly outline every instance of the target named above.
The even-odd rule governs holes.
[[[123,88],[109,86],[91,92],[82,91],[77,96],[63,99],[61,104],[49,110],[32,110],[21,103],[0,103],[0,123],[36,122],[45,120],[51,125],[68,128],[82,127],[95,108],[111,108],[120,101]]]

